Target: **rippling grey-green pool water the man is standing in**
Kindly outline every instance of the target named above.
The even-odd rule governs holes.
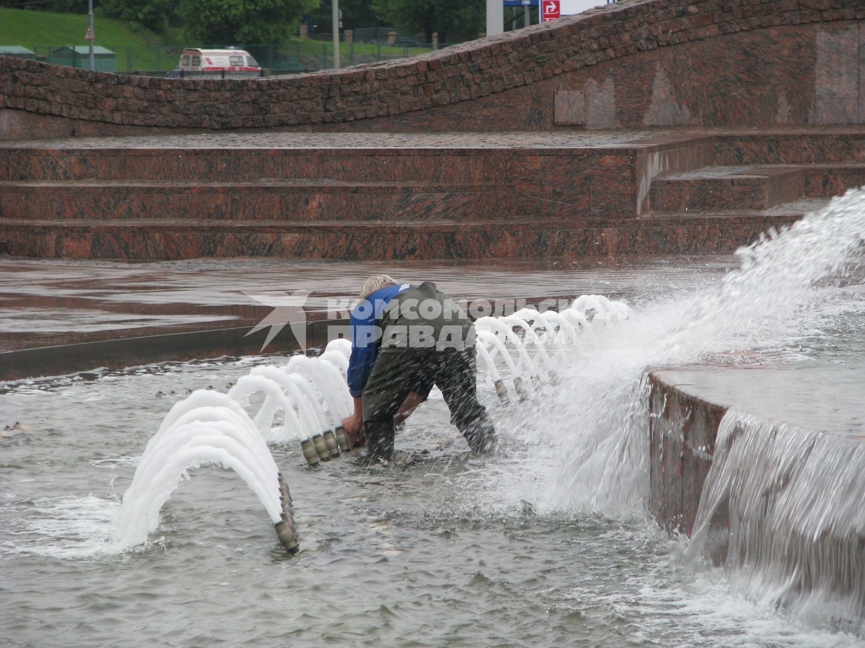
[[[151,541],[109,548],[144,444],[188,390],[225,391],[226,359],[18,383],[0,437],[4,645],[863,645],[695,574],[639,510],[550,505],[557,450],[492,403],[505,451],[468,453],[436,392],[398,436],[404,463],[359,453],[305,467],[272,445],[301,542],[279,547],[230,471],[189,472]],[[171,392],[175,394],[172,395]]]

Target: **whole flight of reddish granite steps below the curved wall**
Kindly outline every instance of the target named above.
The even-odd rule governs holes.
[[[0,252],[369,260],[723,253],[865,180],[856,133],[611,132],[0,145]]]

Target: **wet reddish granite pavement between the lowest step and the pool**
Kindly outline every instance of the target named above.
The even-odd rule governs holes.
[[[0,352],[254,326],[272,312],[274,297],[298,290],[309,291],[303,304],[309,320],[334,318],[378,273],[400,282],[433,281],[457,298],[537,303],[584,293],[663,291],[734,264],[734,257],[707,256],[414,263],[7,257],[0,260]]]

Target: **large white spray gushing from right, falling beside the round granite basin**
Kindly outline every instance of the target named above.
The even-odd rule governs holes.
[[[824,283],[849,281],[863,238],[865,191],[849,191],[822,212],[740,250],[741,268],[720,286],[646,304],[615,327],[600,328],[561,367],[563,383],[544,397],[541,420],[527,418],[518,430],[520,441],[555,449],[548,461],[509,467],[521,488],[536,485],[515,497],[548,511],[643,515],[649,491],[646,372],[729,362],[808,331],[839,296]]]

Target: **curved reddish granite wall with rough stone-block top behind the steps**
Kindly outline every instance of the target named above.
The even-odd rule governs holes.
[[[0,138],[862,124],[863,41],[861,0],[622,0],[410,59],[279,79],[156,79],[0,57]]]

